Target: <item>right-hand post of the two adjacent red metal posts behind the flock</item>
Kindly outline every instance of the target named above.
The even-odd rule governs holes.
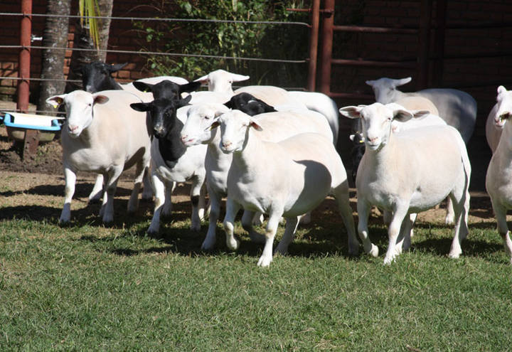
[[[320,92],[331,92],[331,60],[334,28],[334,0],[324,1],[324,21],[322,25]]]

